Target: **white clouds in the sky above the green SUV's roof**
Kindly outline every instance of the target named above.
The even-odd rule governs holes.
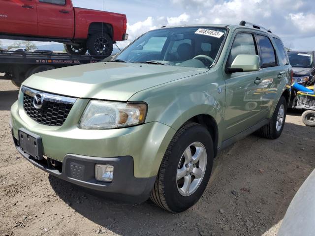
[[[314,0],[170,0],[179,16],[148,17],[128,25],[130,40],[162,25],[239,24],[241,20],[271,29],[290,44],[315,36]],[[129,42],[129,41],[128,41]],[[309,45],[313,46],[313,45]],[[315,46],[313,46],[314,48]]]

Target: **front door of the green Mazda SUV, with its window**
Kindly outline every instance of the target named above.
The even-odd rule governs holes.
[[[240,31],[235,37],[225,68],[231,66],[240,54],[258,55],[252,31]],[[252,127],[265,118],[261,113],[261,96],[264,72],[262,69],[253,72],[227,73],[225,70],[226,104],[224,113],[223,140]]]

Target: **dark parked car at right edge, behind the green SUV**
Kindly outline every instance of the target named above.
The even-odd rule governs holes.
[[[312,71],[315,68],[315,51],[290,51],[287,52],[290,64],[293,66],[293,81],[292,83],[299,83],[306,85],[311,79]]]

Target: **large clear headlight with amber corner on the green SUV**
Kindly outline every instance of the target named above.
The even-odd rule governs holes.
[[[86,107],[79,128],[114,129],[141,124],[147,114],[145,103],[120,103],[90,101]]]

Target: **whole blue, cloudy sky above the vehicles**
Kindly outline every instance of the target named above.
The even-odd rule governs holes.
[[[130,35],[127,43],[143,32],[163,25],[239,24],[241,20],[246,20],[271,29],[283,39],[286,47],[315,50],[314,0],[72,1],[77,7],[126,14]],[[5,41],[3,44],[10,42]],[[125,45],[121,43],[121,46]]]

